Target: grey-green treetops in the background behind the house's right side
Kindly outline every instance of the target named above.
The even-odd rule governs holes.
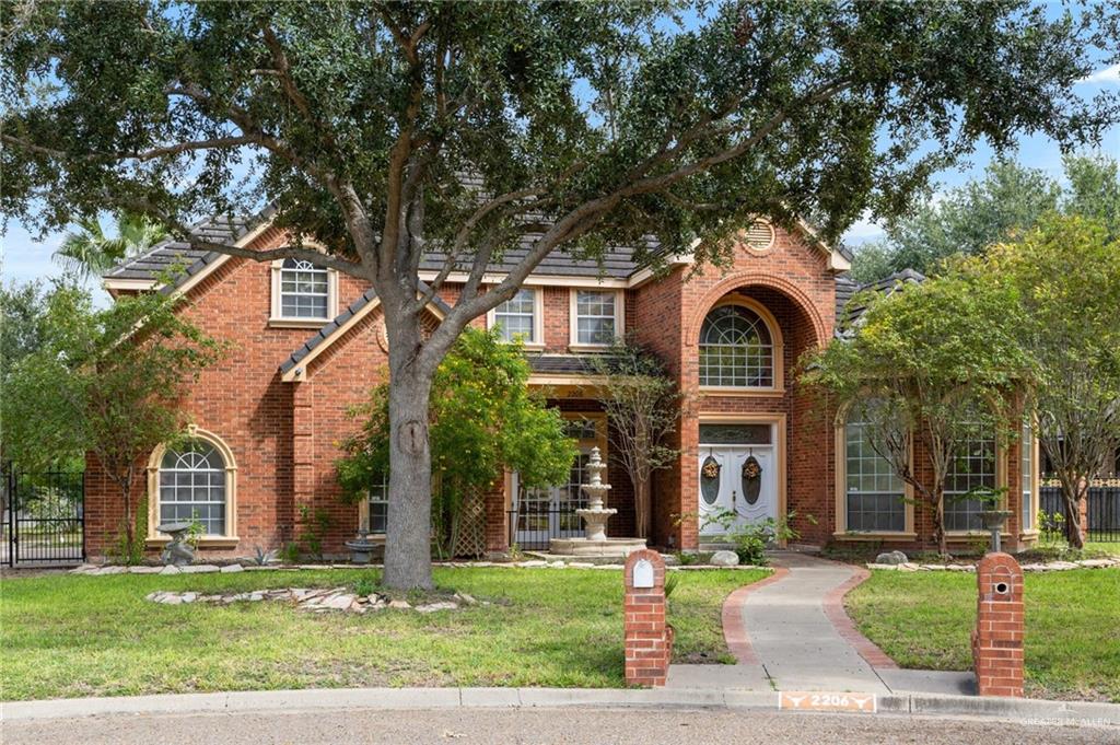
[[[1118,162],[1105,156],[1070,156],[1064,162],[1066,185],[1014,161],[992,162],[982,178],[888,223],[885,241],[856,251],[853,279],[875,281],[903,269],[936,272],[948,258],[982,255],[1053,212],[1095,220],[1111,239],[1120,238]]]

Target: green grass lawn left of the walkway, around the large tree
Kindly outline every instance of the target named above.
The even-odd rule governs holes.
[[[674,659],[732,662],[724,598],[765,571],[682,572],[670,598]],[[4,700],[347,686],[620,687],[617,571],[436,569],[491,605],[418,614],[314,614],[282,603],[167,606],[157,589],[335,587],[376,570],[6,578]]]

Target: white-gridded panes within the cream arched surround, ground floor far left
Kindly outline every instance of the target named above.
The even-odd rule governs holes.
[[[168,448],[159,463],[159,521],[202,523],[205,534],[226,534],[227,464],[217,448],[192,439]]]

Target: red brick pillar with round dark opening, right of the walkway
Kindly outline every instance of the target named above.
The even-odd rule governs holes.
[[[977,565],[972,664],[980,696],[1023,697],[1023,569],[1007,553]]]

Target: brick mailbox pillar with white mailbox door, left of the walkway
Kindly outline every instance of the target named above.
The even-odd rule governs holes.
[[[623,571],[626,685],[664,686],[673,653],[665,625],[665,562],[656,551],[634,551]]]

